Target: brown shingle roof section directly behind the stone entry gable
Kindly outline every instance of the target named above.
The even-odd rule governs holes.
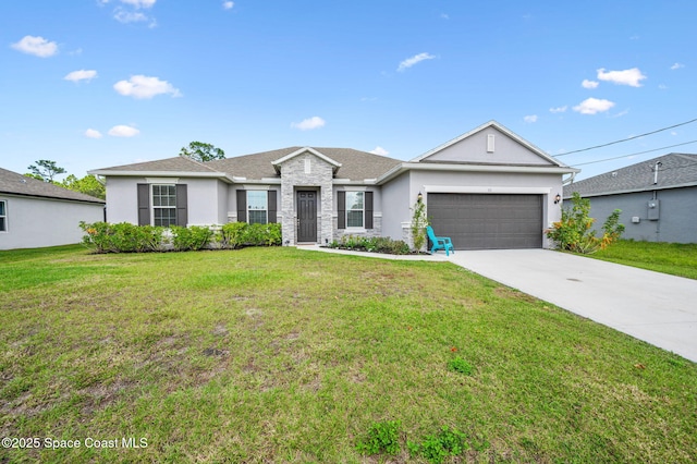
[[[206,162],[206,166],[240,178],[256,180],[260,180],[262,178],[277,178],[278,173],[276,172],[272,162],[302,148],[303,147],[288,147],[254,155],[220,159],[208,161]],[[352,181],[377,179],[402,162],[398,159],[374,155],[367,151],[354,150],[352,148],[313,147],[313,149],[341,164],[341,168],[339,168],[335,175],[338,179],[350,179]]]

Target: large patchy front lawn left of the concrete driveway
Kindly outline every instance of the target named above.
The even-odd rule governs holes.
[[[448,262],[60,247],[0,292],[0,437],[82,442],[0,462],[426,462],[445,427],[466,462],[697,461],[695,364]]]

